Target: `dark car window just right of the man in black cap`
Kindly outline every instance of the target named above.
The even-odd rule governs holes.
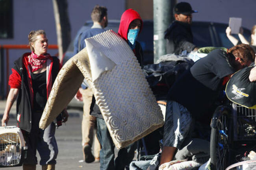
[[[208,22],[193,22],[191,26],[193,34],[193,44],[198,47],[213,46],[211,38],[210,24]]]

